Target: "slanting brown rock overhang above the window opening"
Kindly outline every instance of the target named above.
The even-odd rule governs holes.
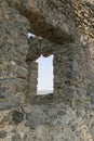
[[[36,35],[41,35],[57,43],[73,40],[73,22],[70,23],[67,18],[72,13],[70,0],[67,2],[65,0],[58,2],[56,0],[26,0],[23,2],[22,0],[14,3],[17,10],[30,21],[31,31]],[[68,9],[67,16],[64,14],[66,9]]]

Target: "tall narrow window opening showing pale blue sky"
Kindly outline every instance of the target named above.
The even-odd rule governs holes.
[[[53,55],[37,60],[38,62],[38,86],[37,94],[53,93]]]

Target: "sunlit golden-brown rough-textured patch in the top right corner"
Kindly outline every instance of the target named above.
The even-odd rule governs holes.
[[[94,41],[94,1],[75,0],[73,9],[77,27],[85,36],[85,40],[92,39]]]

